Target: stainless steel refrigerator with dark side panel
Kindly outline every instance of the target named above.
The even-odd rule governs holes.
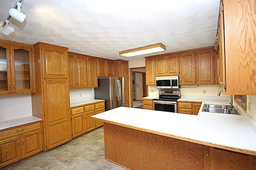
[[[98,77],[95,99],[105,100],[105,111],[124,106],[124,77]]]

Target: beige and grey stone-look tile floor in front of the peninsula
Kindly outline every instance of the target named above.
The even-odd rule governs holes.
[[[104,159],[103,127],[4,170],[125,170]]]

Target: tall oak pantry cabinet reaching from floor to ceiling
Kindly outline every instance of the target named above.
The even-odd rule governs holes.
[[[33,115],[43,119],[45,150],[71,140],[68,48],[38,42],[34,45],[36,93]]]

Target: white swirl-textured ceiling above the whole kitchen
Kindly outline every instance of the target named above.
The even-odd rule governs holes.
[[[0,0],[0,24],[15,6]],[[220,0],[24,0],[23,23],[10,18],[15,33],[0,39],[35,44],[45,42],[68,51],[106,59],[123,57],[119,51],[162,43],[166,51],[212,46]],[[0,28],[2,29],[2,28]]]

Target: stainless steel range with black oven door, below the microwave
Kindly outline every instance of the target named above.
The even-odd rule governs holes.
[[[181,98],[180,89],[159,90],[159,97],[153,99],[153,110],[177,113],[177,100]]]

